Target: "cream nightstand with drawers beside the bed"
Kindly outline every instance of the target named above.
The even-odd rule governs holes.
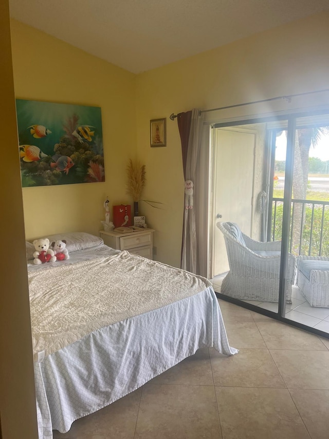
[[[153,229],[144,229],[138,232],[99,232],[104,244],[117,250],[126,250],[134,255],[153,259]]]

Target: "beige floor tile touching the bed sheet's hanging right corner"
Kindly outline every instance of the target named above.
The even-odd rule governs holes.
[[[230,387],[285,388],[268,349],[239,349],[239,354],[224,357],[209,349],[215,385]]]

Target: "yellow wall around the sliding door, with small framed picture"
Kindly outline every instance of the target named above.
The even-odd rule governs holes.
[[[145,198],[166,203],[165,210],[143,208],[157,230],[158,260],[180,263],[184,186],[177,122],[169,115],[329,89],[328,53],[329,14],[322,13],[138,75],[137,154],[147,167]],[[329,103],[328,93],[301,105],[324,101]],[[221,121],[299,104],[274,101],[206,116]],[[168,146],[150,148],[149,120],[161,117],[167,117]]]

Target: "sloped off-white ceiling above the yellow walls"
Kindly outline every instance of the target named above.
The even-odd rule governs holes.
[[[11,16],[132,73],[329,10],[328,0],[9,0]]]

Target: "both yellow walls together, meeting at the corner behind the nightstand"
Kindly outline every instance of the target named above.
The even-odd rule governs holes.
[[[322,13],[135,76],[13,21],[16,97],[100,106],[105,148],[105,183],[23,189],[27,238],[97,233],[105,196],[112,204],[131,202],[125,166],[137,154],[147,169],[143,198],[163,203],[161,209],[140,203],[156,230],[156,258],[179,266],[184,187],[177,122],[169,115],[329,88],[328,25],[329,14]],[[294,106],[300,102],[274,101],[206,116],[222,120]],[[150,148],[150,119],[160,117],[167,117],[167,147]],[[39,219],[40,205],[47,206],[47,221]]]

